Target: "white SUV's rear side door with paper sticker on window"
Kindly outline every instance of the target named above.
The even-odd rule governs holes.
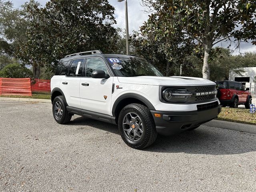
[[[84,59],[72,60],[68,72],[60,82],[60,89],[65,95],[68,106],[81,108],[79,83],[82,76]]]

